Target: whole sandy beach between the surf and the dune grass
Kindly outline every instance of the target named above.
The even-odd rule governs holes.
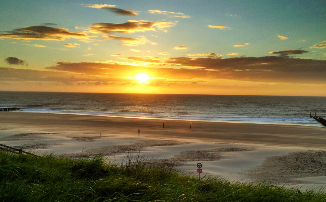
[[[3,112],[0,142],[39,154],[102,154],[113,161],[140,151],[186,172],[195,173],[200,162],[203,174],[229,181],[286,183],[302,191],[326,186],[323,127]]]

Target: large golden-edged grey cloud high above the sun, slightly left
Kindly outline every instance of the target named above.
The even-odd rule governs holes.
[[[88,30],[90,32],[99,34],[99,33],[134,33],[134,32],[144,32],[144,31],[156,31],[154,27],[157,27],[159,30],[167,32],[164,28],[169,28],[174,26],[176,23],[172,22],[148,22],[145,20],[129,20],[127,23],[94,23]],[[1,35],[0,35],[1,36]]]

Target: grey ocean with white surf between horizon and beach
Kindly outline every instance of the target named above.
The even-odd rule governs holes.
[[[309,113],[325,117],[325,104],[326,97],[303,96],[0,91],[0,108],[21,112],[312,126],[322,125]]]

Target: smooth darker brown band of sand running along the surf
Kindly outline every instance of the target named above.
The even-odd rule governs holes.
[[[261,144],[325,149],[326,128],[253,123],[120,118],[89,115],[4,112],[1,129],[39,129],[45,132],[101,132],[108,136],[139,135],[148,138],[187,138],[189,141]],[[164,128],[163,128],[164,123]],[[10,126],[10,127],[9,127]]]

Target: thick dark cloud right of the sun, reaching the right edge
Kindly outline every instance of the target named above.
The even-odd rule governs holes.
[[[326,60],[287,56],[193,58],[177,57],[164,62],[174,78],[231,79],[255,82],[326,84]],[[186,69],[182,68],[185,67]],[[190,68],[190,69],[189,69]],[[196,68],[196,69],[193,69]],[[162,70],[163,71],[163,70]]]

